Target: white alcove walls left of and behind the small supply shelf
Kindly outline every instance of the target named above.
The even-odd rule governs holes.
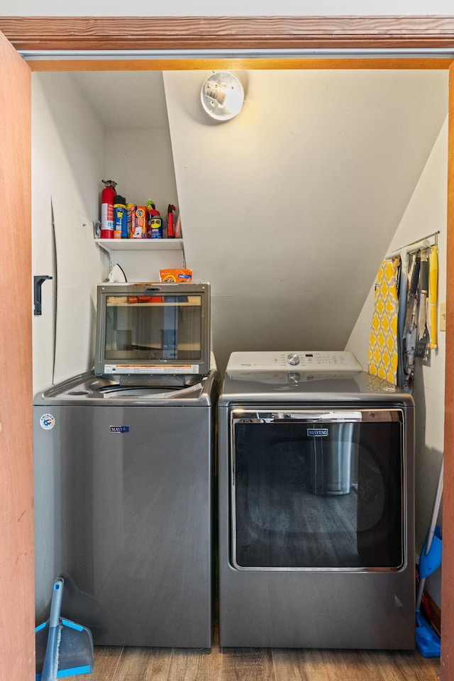
[[[121,91],[118,82],[121,76],[99,75],[104,87],[111,86],[109,96],[126,96],[126,87]],[[52,277],[42,287],[43,314],[33,317],[34,393],[93,365],[96,284],[109,272],[109,258],[93,241],[101,179],[114,179],[128,201],[145,204],[153,199],[163,215],[168,204],[178,206],[162,74],[142,74],[128,106],[118,109],[124,116],[128,107],[146,105],[147,115],[123,117],[125,124],[149,123],[150,128],[140,129],[106,128],[120,122],[111,111],[112,100],[104,101],[104,111],[99,109],[101,121],[96,109],[103,97],[101,102],[87,99],[81,76],[35,73],[32,78],[33,275]],[[96,79],[96,74],[87,77]],[[130,87],[134,82],[130,73],[123,79]],[[128,281],[157,281],[160,267],[182,266],[182,251],[116,252],[113,260]]]

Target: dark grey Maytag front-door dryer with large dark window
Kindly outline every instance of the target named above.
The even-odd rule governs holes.
[[[221,646],[414,648],[414,402],[351,353],[233,353]]]

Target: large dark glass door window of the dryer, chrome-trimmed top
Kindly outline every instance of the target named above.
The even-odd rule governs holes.
[[[233,418],[233,564],[402,567],[403,427],[399,409]]]

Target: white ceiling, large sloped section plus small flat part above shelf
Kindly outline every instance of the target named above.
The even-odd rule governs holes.
[[[167,102],[187,266],[212,285],[221,370],[233,350],[343,349],[447,115],[448,76],[236,72],[243,111],[214,123],[208,73],[109,74],[126,94],[107,108],[96,81],[80,84],[106,127],[143,128],[150,107],[162,127]]]

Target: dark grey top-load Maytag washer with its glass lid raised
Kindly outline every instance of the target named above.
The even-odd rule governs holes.
[[[209,284],[100,284],[94,372],[34,402],[37,613],[113,646],[210,648]]]

